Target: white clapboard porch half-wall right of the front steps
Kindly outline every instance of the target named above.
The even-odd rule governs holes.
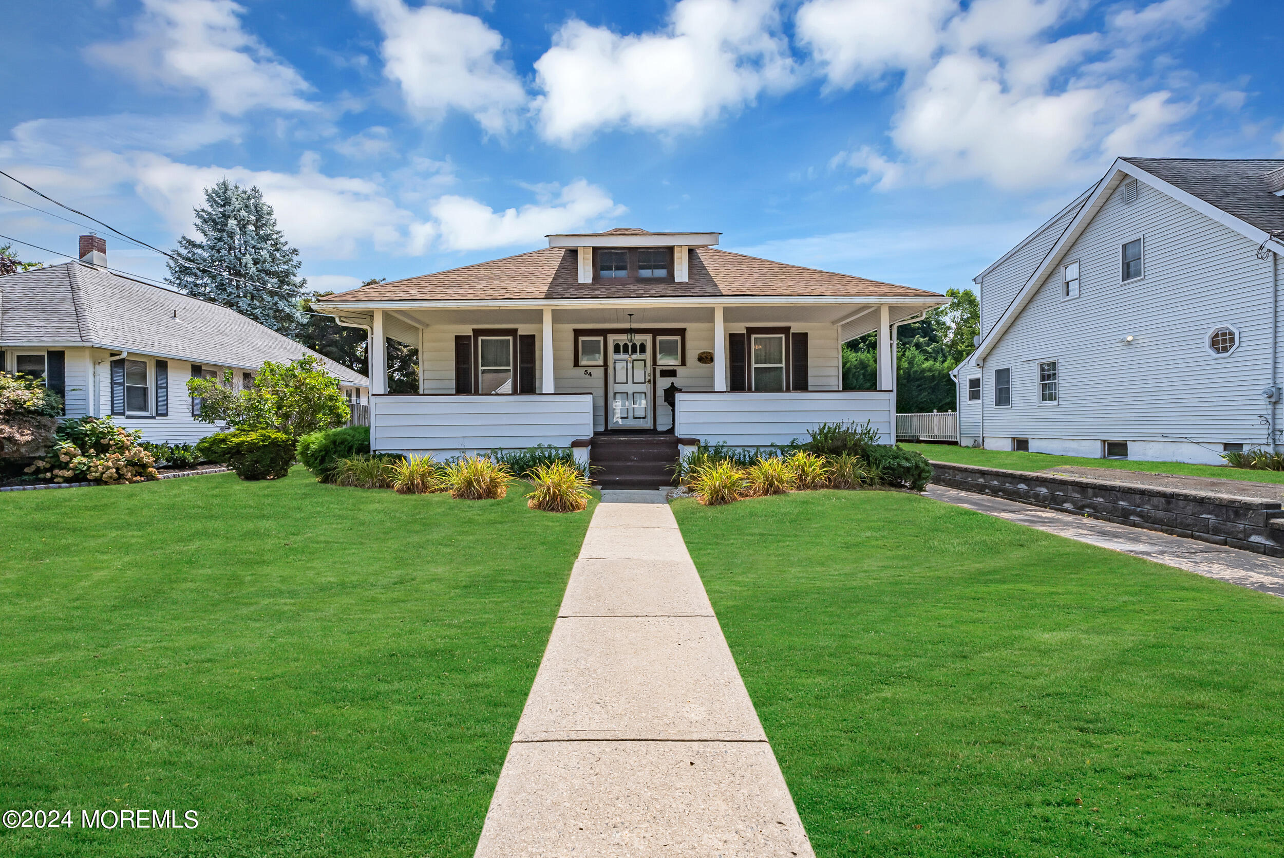
[[[767,447],[799,438],[822,423],[871,421],[891,443],[891,393],[809,390],[792,393],[679,393],[677,434],[711,444]]]

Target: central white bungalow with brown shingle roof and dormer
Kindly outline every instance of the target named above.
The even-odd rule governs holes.
[[[417,394],[388,394],[385,367],[371,371],[377,451],[451,456],[544,443],[596,461],[611,439],[654,438],[670,452],[678,438],[758,447],[827,420],[871,420],[890,442],[891,333],[945,299],[719,250],[719,235],[550,235],[547,248],[317,306],[376,340],[419,348]],[[873,330],[880,389],[844,390],[841,343]],[[668,482],[654,470],[618,475]]]

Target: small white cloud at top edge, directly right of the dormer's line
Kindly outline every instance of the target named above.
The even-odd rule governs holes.
[[[799,41],[832,86],[919,68],[940,46],[954,0],[813,0],[799,9]]]

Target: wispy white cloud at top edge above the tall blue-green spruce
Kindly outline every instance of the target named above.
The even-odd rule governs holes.
[[[288,63],[241,28],[245,9],[231,0],[143,0],[136,36],[87,49],[91,59],[143,83],[203,90],[216,110],[307,110],[311,89]]]

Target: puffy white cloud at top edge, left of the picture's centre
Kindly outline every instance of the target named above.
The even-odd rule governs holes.
[[[354,5],[383,30],[384,74],[401,86],[412,113],[435,122],[456,109],[490,134],[512,127],[526,92],[496,60],[503,37],[480,18],[434,5],[411,9],[402,0]]]

